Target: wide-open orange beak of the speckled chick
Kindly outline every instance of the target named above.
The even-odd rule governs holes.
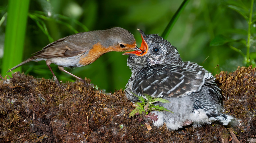
[[[136,47],[138,49],[134,48],[135,51],[125,52],[125,53],[123,53],[123,55],[143,56],[148,52],[148,44],[146,43],[146,34],[140,29],[137,29],[137,30],[139,30],[139,33],[140,33],[141,39],[142,39],[140,48]]]

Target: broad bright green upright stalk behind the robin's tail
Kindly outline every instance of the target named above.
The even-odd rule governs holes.
[[[8,1],[2,75],[22,61],[28,9],[29,0]]]

